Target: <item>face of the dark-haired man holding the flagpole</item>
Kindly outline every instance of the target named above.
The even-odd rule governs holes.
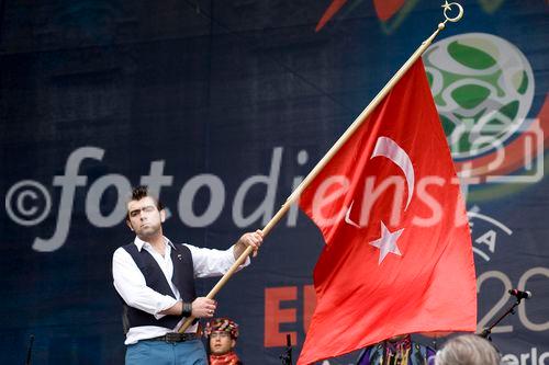
[[[150,196],[127,203],[127,226],[137,237],[146,239],[161,233],[161,224],[166,218],[164,210],[158,210],[156,202]]]

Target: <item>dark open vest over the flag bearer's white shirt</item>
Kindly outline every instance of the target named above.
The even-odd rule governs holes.
[[[173,246],[175,249],[173,247],[171,248],[171,262],[173,263],[173,275],[171,281],[178,288],[181,299],[186,303],[192,303],[197,298],[197,292],[194,289],[194,270],[191,251],[183,244]],[[164,295],[173,296],[160,266],[158,266],[155,258],[153,258],[147,250],[137,250],[135,243],[126,244],[123,249],[130,253],[137,264],[149,288]],[[122,300],[122,303],[124,333],[126,333],[130,328],[138,326],[158,326],[171,329],[181,320],[180,316],[165,316],[160,319],[156,319],[155,316],[146,311],[130,307],[124,300]]]

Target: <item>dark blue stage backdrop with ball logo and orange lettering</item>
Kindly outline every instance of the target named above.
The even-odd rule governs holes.
[[[1,363],[25,362],[34,335],[33,364],[123,364],[111,263],[134,239],[131,186],[159,194],[173,242],[225,249],[262,228],[442,3],[2,1]],[[549,4],[460,4],[423,61],[467,199],[478,330],[529,290],[492,340],[507,364],[549,364]],[[323,246],[294,206],[220,292],[244,363],[281,364],[287,334],[298,357]]]

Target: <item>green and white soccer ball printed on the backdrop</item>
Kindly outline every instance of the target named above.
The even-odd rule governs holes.
[[[430,90],[456,159],[503,147],[534,98],[534,75],[520,50],[497,36],[468,33],[433,44],[423,56]]]

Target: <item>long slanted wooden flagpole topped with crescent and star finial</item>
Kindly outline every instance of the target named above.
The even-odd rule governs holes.
[[[449,11],[452,7],[457,7],[458,14],[456,16],[450,16]],[[412,56],[402,65],[402,67],[396,71],[396,73],[389,80],[389,82],[381,89],[381,91],[373,98],[373,100],[366,106],[366,109],[360,113],[359,116],[352,122],[352,124],[345,130],[345,133],[339,137],[339,139],[332,146],[332,148],[324,155],[324,157],[316,163],[313,170],[306,175],[306,178],[301,182],[301,184],[292,192],[292,194],[287,198],[285,203],[280,207],[277,214],[269,220],[269,223],[264,227],[261,233],[266,237],[271,229],[282,219],[282,217],[288,213],[290,206],[295,203],[301,193],[309,186],[309,184],[316,178],[316,175],[322,171],[322,169],[332,160],[332,158],[337,153],[337,151],[347,142],[347,140],[352,136],[352,134],[362,125],[362,123],[368,118],[372,111],[381,103],[381,101],[386,96],[386,94],[393,89],[393,87],[399,82],[399,80],[406,73],[406,71],[414,65],[414,62],[423,55],[423,53],[430,46],[435,37],[446,27],[447,22],[458,22],[463,16],[463,8],[457,2],[448,2],[441,7],[444,9],[445,21],[439,23],[437,30],[425,39],[422,45],[412,54]],[[223,275],[223,277],[215,284],[215,286],[206,295],[206,298],[213,299],[215,295],[221,290],[221,288],[226,284],[226,282],[233,276],[233,274],[238,270],[238,267],[244,264],[246,259],[250,255],[253,251],[251,247],[248,247],[236,259],[235,263],[231,269]],[[179,332],[184,332],[187,328],[192,323],[194,317],[189,317],[183,322]]]

